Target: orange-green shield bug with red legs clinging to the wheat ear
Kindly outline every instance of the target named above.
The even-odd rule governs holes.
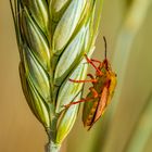
[[[106,39],[105,37],[103,37],[103,39],[105,43],[105,58],[103,62],[89,59],[87,55],[85,55],[87,62],[96,69],[96,75],[93,76],[88,74],[87,76],[91,78],[89,80],[69,79],[72,83],[92,83],[92,87],[89,88],[90,91],[86,98],[65,105],[65,107],[68,107],[73,104],[85,102],[83,110],[83,122],[85,127],[89,127],[88,130],[103,115],[113,97],[116,86],[116,74],[112,71],[111,64],[106,59]],[[97,66],[96,64],[99,65]]]

